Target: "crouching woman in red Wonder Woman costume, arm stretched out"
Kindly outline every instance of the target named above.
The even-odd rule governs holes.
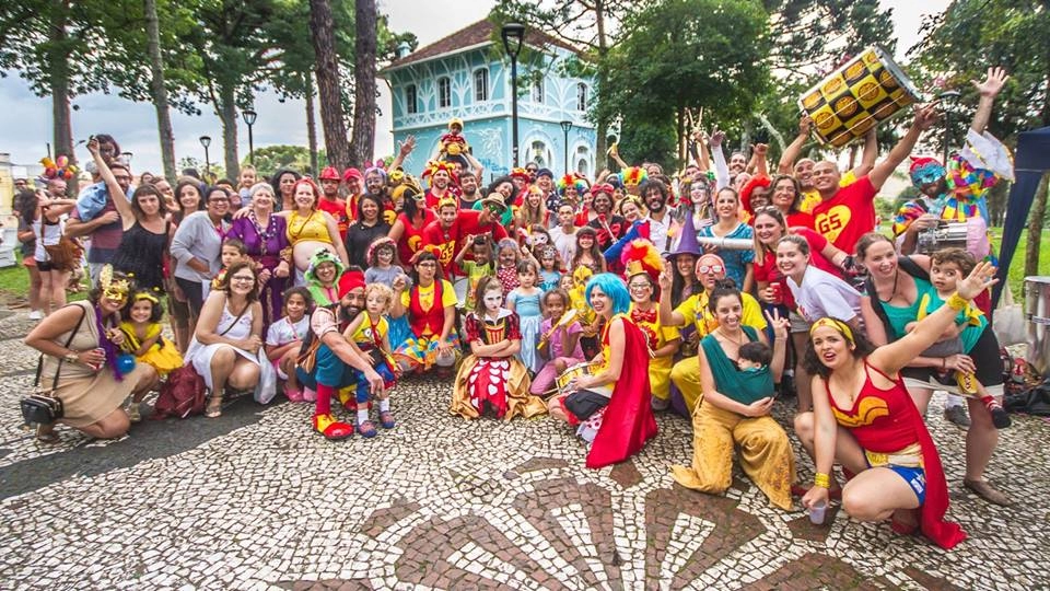
[[[814,487],[802,502],[827,502],[831,464],[854,474],[842,489],[842,507],[863,521],[894,518],[894,530],[918,525],[943,548],[966,540],[944,521],[947,484],[941,457],[922,416],[898,372],[933,345],[969,300],[995,282],[994,267],[981,263],[957,286],[945,305],[888,345],[872,350],[867,340],[840,321],[821,318],[809,331],[806,362],[814,373],[813,413],[795,418],[795,430],[815,457]]]

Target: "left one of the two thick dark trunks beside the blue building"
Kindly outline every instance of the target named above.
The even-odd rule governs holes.
[[[358,26],[360,27],[360,24]],[[313,34],[314,54],[317,56],[317,95],[320,99],[320,125],[325,132],[328,164],[345,169],[350,165],[350,144],[347,141],[347,125],[342,118],[342,101],[339,97],[335,23],[328,0],[310,0],[310,31]],[[361,63],[361,56],[358,57],[358,62]],[[375,63],[372,68],[374,73]],[[374,101],[375,99],[373,104]]]

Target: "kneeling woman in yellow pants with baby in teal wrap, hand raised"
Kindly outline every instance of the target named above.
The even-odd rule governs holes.
[[[716,286],[708,306],[719,327],[698,352],[703,402],[692,416],[692,466],[673,466],[672,473],[685,487],[721,495],[732,483],[736,444],[744,472],[770,502],[791,509],[795,456],[788,433],[769,415],[790,322],[766,313],[775,335],[770,356],[765,333],[740,324],[743,299],[732,282]]]

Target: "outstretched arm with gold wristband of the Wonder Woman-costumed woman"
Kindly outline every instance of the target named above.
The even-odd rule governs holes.
[[[942,334],[955,324],[955,317],[966,309],[970,300],[995,285],[995,267],[982,260],[973,267],[966,279],[958,282],[956,292],[937,309],[936,312],[919,321],[914,329],[903,337],[875,349],[868,357],[872,366],[894,375],[901,368],[911,363],[928,347],[941,338]]]

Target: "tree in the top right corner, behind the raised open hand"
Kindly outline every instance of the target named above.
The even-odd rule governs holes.
[[[926,80],[958,90],[960,116],[953,117],[950,137],[959,142],[977,105],[969,80],[990,66],[1002,66],[1011,82],[995,100],[988,130],[1007,146],[1017,134],[1050,126],[1050,0],[957,0],[923,23],[922,43],[912,48]],[[1038,245],[1047,218],[1048,175],[1043,175],[1028,219],[1028,244]],[[1025,255],[1025,274],[1039,270],[1039,250]]]

